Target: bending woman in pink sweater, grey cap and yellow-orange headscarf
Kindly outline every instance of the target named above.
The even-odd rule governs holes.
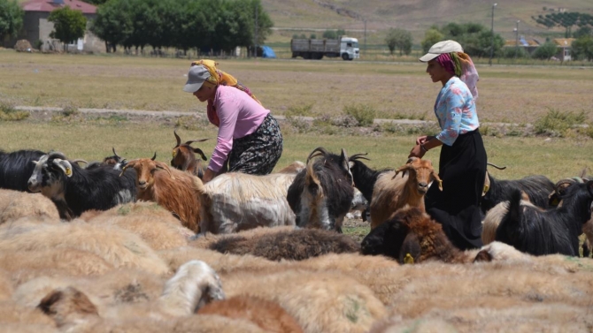
[[[208,102],[208,119],[219,127],[204,183],[216,177],[227,161],[228,171],[272,172],[282,154],[280,126],[247,87],[216,68],[214,61],[198,60],[191,64],[183,90]]]

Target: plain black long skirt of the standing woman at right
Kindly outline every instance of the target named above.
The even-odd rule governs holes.
[[[480,198],[486,176],[486,149],[476,129],[458,136],[453,146],[443,145],[438,184],[425,197],[428,215],[443,225],[443,231],[460,249],[482,246]]]

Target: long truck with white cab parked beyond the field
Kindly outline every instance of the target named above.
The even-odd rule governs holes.
[[[292,57],[320,59],[322,57],[342,57],[344,60],[358,59],[358,39],[342,36],[340,39],[295,39],[290,40]]]

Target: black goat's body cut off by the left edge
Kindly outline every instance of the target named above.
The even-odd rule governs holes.
[[[27,191],[27,180],[35,169],[34,161],[45,155],[40,150],[17,150],[5,153],[0,150],[0,188]]]

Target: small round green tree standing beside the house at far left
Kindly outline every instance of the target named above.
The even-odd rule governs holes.
[[[51,11],[48,21],[54,24],[50,37],[63,42],[66,51],[68,43],[84,37],[87,27],[87,18],[82,15],[82,11],[74,11],[69,6]]]

